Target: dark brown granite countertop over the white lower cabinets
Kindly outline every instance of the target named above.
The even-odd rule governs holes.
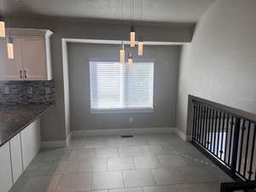
[[[38,119],[52,105],[0,105],[0,147]]]

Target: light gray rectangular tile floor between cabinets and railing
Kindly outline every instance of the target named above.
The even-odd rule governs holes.
[[[176,135],[74,137],[42,150],[11,192],[219,192],[232,179]]]

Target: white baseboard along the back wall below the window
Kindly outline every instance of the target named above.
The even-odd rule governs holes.
[[[88,136],[121,136],[121,135],[142,135],[142,134],[171,134],[176,132],[176,127],[154,127],[134,129],[106,129],[106,130],[83,130],[71,131],[73,137]]]

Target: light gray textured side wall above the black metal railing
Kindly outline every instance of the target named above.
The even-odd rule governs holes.
[[[188,95],[256,113],[256,1],[217,0],[183,46],[177,127],[186,130]]]

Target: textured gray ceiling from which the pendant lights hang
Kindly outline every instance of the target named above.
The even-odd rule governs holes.
[[[8,16],[131,20],[132,0],[1,0]],[[134,0],[134,20],[196,22],[214,0]],[[122,11],[123,7],[123,11]]]

